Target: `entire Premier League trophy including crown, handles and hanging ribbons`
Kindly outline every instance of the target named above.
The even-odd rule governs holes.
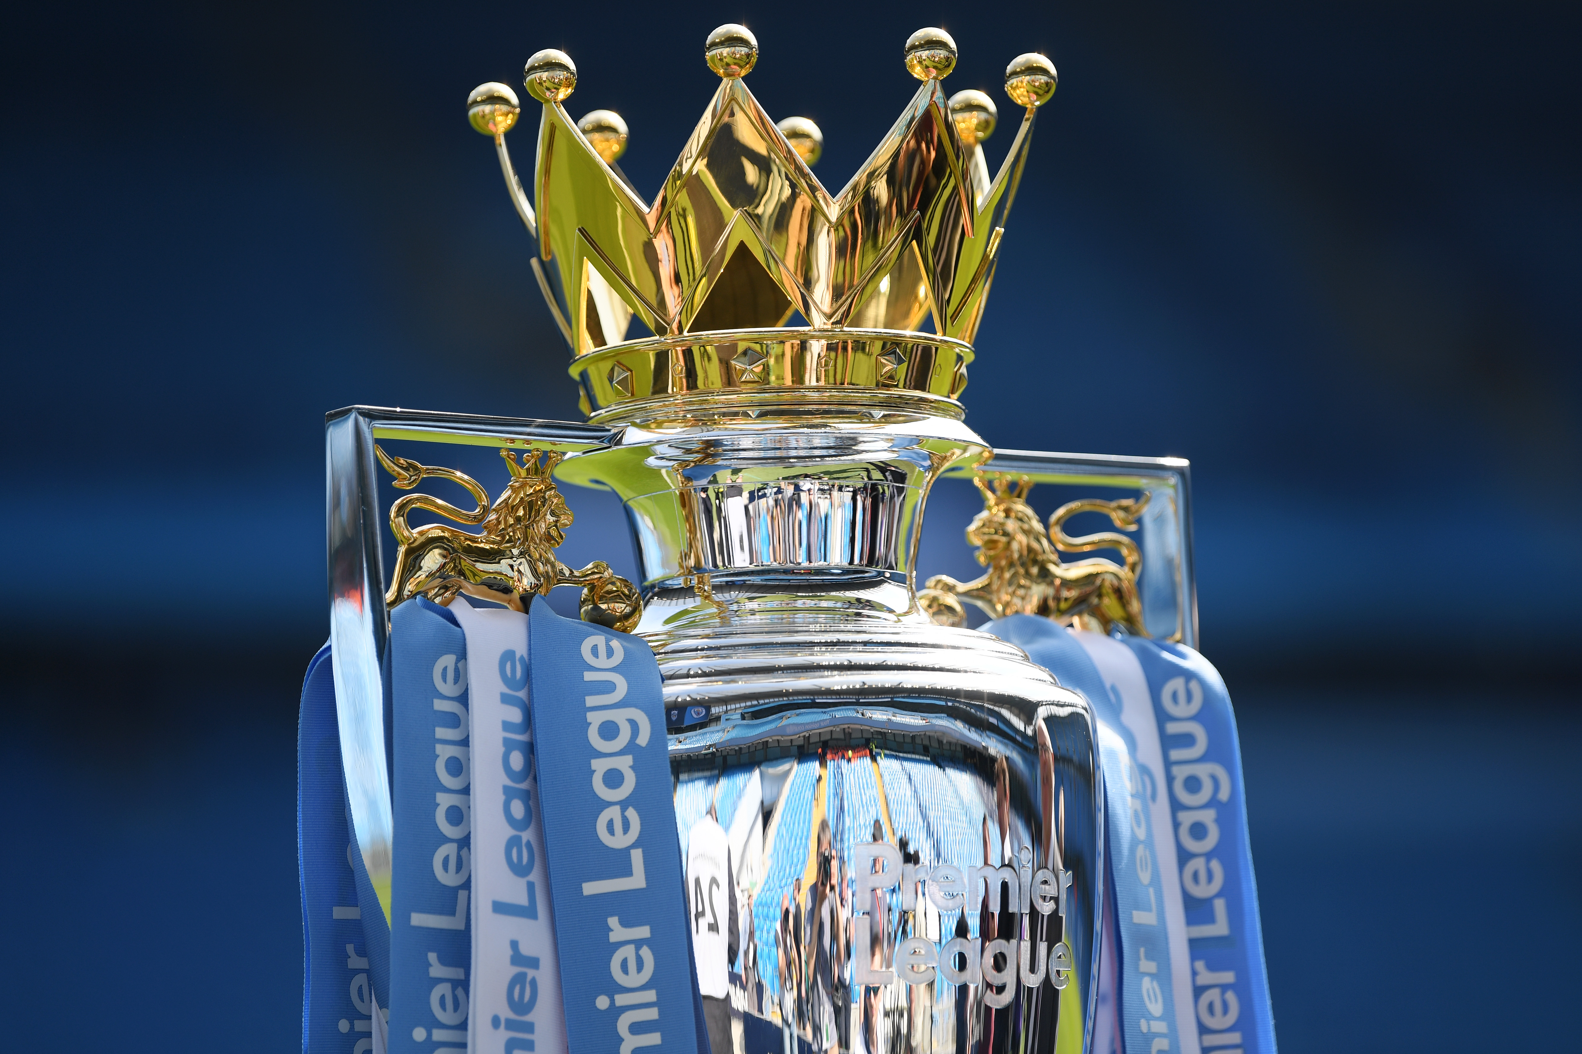
[[[530,190],[517,95],[468,98],[587,423],[329,414],[304,1049],[1272,1052],[1186,463],[993,450],[957,401],[1054,65],[1006,68],[990,174],[995,103],[946,96],[919,30],[831,194],[819,130],[747,88],[753,35],[704,57],[652,204],[622,119],[563,107],[568,55],[527,63]],[[557,558],[568,485],[619,496],[641,582]],[[918,577],[943,487],[982,498],[975,582]],[[1046,523],[1033,487],[1073,499]]]

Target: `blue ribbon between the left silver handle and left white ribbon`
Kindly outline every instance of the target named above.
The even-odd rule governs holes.
[[[426,597],[391,612],[396,856],[391,1051],[465,1054],[471,988],[467,638]]]

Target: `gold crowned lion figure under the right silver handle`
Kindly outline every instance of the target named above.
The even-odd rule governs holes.
[[[1027,504],[1031,480],[995,479],[993,488],[984,477],[973,482],[984,495],[984,510],[973,517],[967,540],[978,547],[978,563],[989,569],[976,582],[957,582],[949,575],[933,575],[918,593],[918,604],[941,626],[962,626],[967,612],[962,600],[975,604],[993,618],[1006,615],[1044,615],[1058,623],[1095,627],[1109,632],[1123,626],[1147,637],[1142,624],[1142,602],[1137,597],[1137,569],[1142,553],[1125,534],[1085,534],[1069,537],[1065,521],[1079,512],[1104,512],[1123,531],[1137,529],[1137,517],[1149,506],[1149,495],[1122,501],[1073,501],[1049,517],[1049,531]],[[1095,548],[1118,548],[1125,567],[1109,559],[1060,561],[1060,553],[1084,553]]]

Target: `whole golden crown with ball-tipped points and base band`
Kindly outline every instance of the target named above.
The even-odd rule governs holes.
[[[528,93],[544,104],[536,209],[505,145],[520,115],[516,93],[490,82],[468,96],[468,119],[495,139],[506,188],[538,240],[533,272],[571,344],[584,412],[750,389],[956,398],[1033,115],[1055,90],[1054,65],[1025,54],[1006,68],[1006,95],[1025,114],[990,179],[981,144],[995,106],[982,92],[946,98],[940,82],[956,66],[956,41],[918,30],[905,63],[922,85],[831,194],[812,171],[818,126],[775,123],[742,82],[758,62],[756,38],[721,25],[704,57],[720,88],[653,204],[615,164],[625,122],[609,111],[573,122],[562,106],[576,88],[566,54],[541,51],[525,70]],[[788,327],[796,314],[805,326]],[[626,340],[633,319],[652,335]],[[919,330],[925,319],[932,332]]]

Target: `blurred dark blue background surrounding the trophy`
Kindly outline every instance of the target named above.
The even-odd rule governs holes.
[[[652,193],[726,21],[834,186],[911,95],[911,30],[997,100],[1012,55],[1054,58],[968,422],[1191,458],[1281,1046],[1577,1049],[1574,5],[0,17],[9,1049],[297,1045],[323,412],[576,417],[464,100],[563,47],[568,106],[626,117]],[[566,558],[630,567],[617,510],[571,498]],[[965,559],[970,514],[930,506],[925,563]]]

